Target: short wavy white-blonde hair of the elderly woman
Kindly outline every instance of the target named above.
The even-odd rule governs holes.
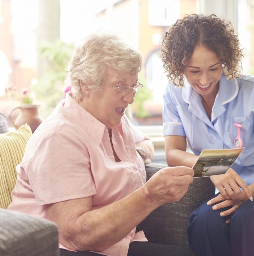
[[[141,54],[116,34],[94,32],[81,43],[75,44],[68,66],[68,80],[73,96],[83,98],[80,80],[91,91],[102,89],[107,67],[117,71],[137,74],[142,68]]]

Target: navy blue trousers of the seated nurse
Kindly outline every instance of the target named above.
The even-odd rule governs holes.
[[[247,200],[233,215],[221,217],[220,213],[231,207],[212,210],[207,202],[217,195],[191,213],[187,229],[190,248],[197,256],[253,256],[254,201]]]

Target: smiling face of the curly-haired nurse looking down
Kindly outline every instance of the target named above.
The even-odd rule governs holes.
[[[185,68],[186,79],[191,87],[202,98],[215,98],[221,74],[222,64],[217,55],[208,48],[197,46]]]

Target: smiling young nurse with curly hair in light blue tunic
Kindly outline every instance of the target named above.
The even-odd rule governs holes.
[[[203,149],[245,147],[225,174],[210,176],[220,193],[190,216],[198,256],[254,253],[254,77],[241,75],[242,57],[230,22],[215,15],[185,16],[163,39],[168,164],[192,167]]]

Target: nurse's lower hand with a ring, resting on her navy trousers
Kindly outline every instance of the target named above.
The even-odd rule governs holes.
[[[245,198],[246,198],[246,196],[245,196]],[[244,200],[244,201],[246,201],[246,200]],[[213,210],[219,210],[219,209],[224,208],[224,207],[232,206],[230,209],[220,213],[220,216],[224,217],[224,216],[228,216],[230,214],[234,214],[235,211],[239,208],[239,206],[241,204],[243,204],[244,201],[240,201],[240,200],[234,201],[232,199],[227,200],[222,194],[219,194],[219,195],[217,195],[217,197],[208,201],[207,204],[210,205],[210,204],[217,203],[212,207]],[[218,203],[218,202],[221,202],[221,203]],[[230,223],[230,218],[226,220],[226,223],[227,224]]]

